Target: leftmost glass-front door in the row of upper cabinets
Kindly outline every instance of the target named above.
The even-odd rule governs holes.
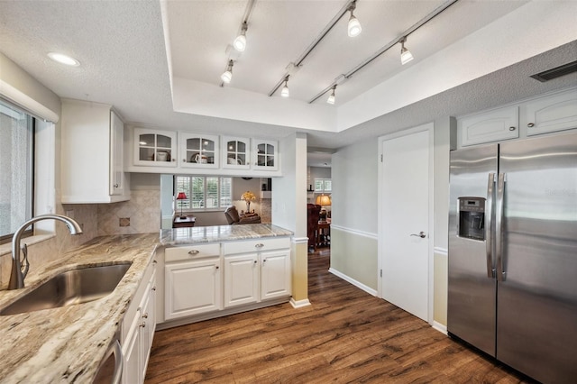
[[[134,165],[177,166],[177,133],[134,128]]]

